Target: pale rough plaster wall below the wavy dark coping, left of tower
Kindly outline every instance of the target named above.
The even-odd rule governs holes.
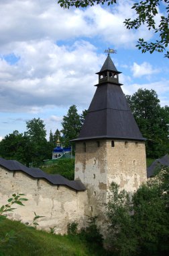
[[[84,226],[84,207],[87,205],[87,191],[76,192],[68,187],[54,186],[42,179],[33,179],[23,172],[11,172],[0,167],[0,205],[6,204],[13,193],[24,193],[28,201],[25,206],[9,214],[14,220],[31,223],[34,212],[45,216],[38,223],[45,230],[55,228],[56,233],[64,234],[67,224],[76,220]]]

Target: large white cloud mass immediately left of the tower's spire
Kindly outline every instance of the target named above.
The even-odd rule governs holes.
[[[19,52],[17,65],[0,61],[1,111],[38,113],[47,105],[89,104],[97,82],[93,73],[103,58],[92,44],[81,40],[69,49],[50,40],[21,42],[14,51]]]

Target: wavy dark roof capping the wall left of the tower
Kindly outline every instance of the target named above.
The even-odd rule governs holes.
[[[43,172],[40,168],[28,168],[24,166],[20,162],[15,160],[5,160],[0,158],[0,166],[3,166],[7,170],[11,171],[21,171],[30,175],[35,179],[46,179],[46,181],[50,182],[52,185],[63,185],[70,187],[76,191],[84,191],[86,188],[80,181],[68,181],[68,179],[62,177],[59,174],[47,174]]]

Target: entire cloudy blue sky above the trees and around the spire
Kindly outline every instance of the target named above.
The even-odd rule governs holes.
[[[88,108],[109,47],[117,50],[111,58],[123,72],[125,94],[154,89],[162,106],[169,105],[168,59],[135,48],[138,38],[153,38],[146,26],[123,25],[134,17],[132,3],[64,10],[55,0],[0,1],[0,139],[24,132],[25,122],[38,117],[49,134],[61,129],[72,104],[79,113]]]

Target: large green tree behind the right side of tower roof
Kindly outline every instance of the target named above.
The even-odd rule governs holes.
[[[126,98],[142,135],[147,139],[147,156],[157,158],[166,154],[169,147],[169,107],[160,106],[154,90],[139,89]]]

